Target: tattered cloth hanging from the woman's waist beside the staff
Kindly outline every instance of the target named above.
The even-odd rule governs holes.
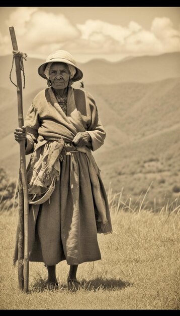
[[[30,204],[42,204],[50,198],[59,180],[63,147],[62,138],[54,141],[40,138],[27,172]]]

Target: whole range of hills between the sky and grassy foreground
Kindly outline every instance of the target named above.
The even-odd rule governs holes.
[[[177,198],[178,188],[180,192],[179,60],[180,53],[173,53],[115,64],[91,61],[80,65],[85,89],[95,97],[107,132],[104,146],[94,152],[105,187],[108,190],[111,181],[113,190],[120,192],[123,188],[125,199],[131,195],[132,202],[146,192],[151,182],[147,199],[152,207],[154,197],[156,205],[160,205],[164,200]],[[0,58],[5,69],[8,61],[10,57]],[[33,75],[41,62],[29,59],[26,64],[24,114],[37,92],[46,87],[43,79]],[[6,84],[8,76],[3,79],[0,164],[17,177],[19,145],[13,135],[17,126],[16,88]]]

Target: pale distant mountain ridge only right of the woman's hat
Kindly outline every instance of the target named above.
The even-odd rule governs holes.
[[[180,52],[143,56],[110,63],[91,61],[80,65],[85,84],[152,82],[180,76]]]

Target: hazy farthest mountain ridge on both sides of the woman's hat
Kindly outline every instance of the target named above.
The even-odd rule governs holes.
[[[44,60],[27,58],[24,62],[26,88],[24,94],[46,87],[46,81],[41,78],[37,69]],[[0,77],[0,87],[10,89],[16,95],[16,89],[10,82],[9,75],[12,66],[12,56],[0,57],[3,76]],[[93,60],[78,64],[84,76],[86,85],[117,84],[122,82],[153,82],[167,78],[180,77],[180,52],[159,56],[135,57],[120,62],[111,63],[105,60]],[[15,71],[13,72],[15,80]],[[79,82],[74,83],[79,87]]]

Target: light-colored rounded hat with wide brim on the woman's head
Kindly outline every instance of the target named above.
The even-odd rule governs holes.
[[[76,69],[76,73],[72,78],[73,81],[78,81],[78,80],[82,79],[82,77],[83,77],[83,73],[77,67],[76,62],[74,61],[72,55],[70,55],[69,52],[66,50],[56,50],[55,52],[53,52],[52,54],[50,54],[47,57],[45,63],[43,63],[41,66],[39,66],[38,74],[41,77],[43,77],[44,79],[48,79],[44,74],[45,68],[46,68],[48,63],[64,63],[67,65],[74,66]]]

